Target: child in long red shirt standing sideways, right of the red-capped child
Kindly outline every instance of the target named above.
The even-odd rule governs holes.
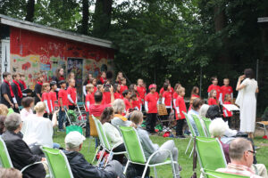
[[[183,125],[185,122],[185,116],[182,113],[182,111],[187,112],[185,101],[184,101],[184,96],[185,96],[185,88],[180,87],[179,96],[177,97],[177,100],[176,100],[176,113],[175,113],[176,120],[177,120],[176,136],[178,138],[185,138],[185,136],[182,134]]]

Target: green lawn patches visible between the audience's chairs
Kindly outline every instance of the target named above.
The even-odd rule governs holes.
[[[61,144],[62,147],[64,147],[64,133],[54,133],[54,142],[58,142]],[[161,145],[163,142],[166,142],[170,140],[171,138],[163,138],[162,136],[151,136],[151,139],[153,142]],[[182,166],[181,176],[184,178],[190,177],[193,174],[192,167],[193,167],[193,158],[188,158],[189,152],[192,149],[192,146],[190,147],[190,150],[188,150],[187,155],[184,154],[189,138],[187,139],[173,139],[178,150],[179,150],[179,163],[180,166]],[[89,145],[90,143],[90,145]],[[255,145],[261,147],[260,150],[257,150],[256,158],[258,163],[263,163],[266,167],[268,167],[268,159],[267,159],[267,152],[268,152],[268,141],[262,139],[260,136],[255,138]],[[93,139],[87,139],[84,144],[83,148],[81,150],[81,153],[85,156],[85,158],[88,160],[88,162],[91,162],[91,160],[94,157],[95,153],[95,141]],[[95,162],[96,164],[96,162]],[[200,167],[197,164],[197,175],[199,176]],[[153,174],[153,170],[151,170],[151,174]],[[157,167],[157,174],[159,178],[170,178],[172,177],[172,168],[171,166],[158,166]]]

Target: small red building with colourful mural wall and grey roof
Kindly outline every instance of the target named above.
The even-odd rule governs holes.
[[[22,72],[33,89],[36,78],[51,81],[54,71],[63,68],[65,78],[75,73],[78,93],[89,73],[113,72],[112,42],[50,28],[0,14],[0,72]],[[1,81],[3,78],[1,77]]]

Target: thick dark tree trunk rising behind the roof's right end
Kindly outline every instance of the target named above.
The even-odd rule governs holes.
[[[93,36],[104,37],[111,25],[113,0],[96,0]]]

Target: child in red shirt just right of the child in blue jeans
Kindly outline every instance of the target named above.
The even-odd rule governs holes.
[[[69,87],[67,88],[67,97],[68,97],[68,107],[71,110],[74,110],[77,106],[77,97],[76,97],[76,88],[75,88],[75,80],[73,78],[70,79]]]

